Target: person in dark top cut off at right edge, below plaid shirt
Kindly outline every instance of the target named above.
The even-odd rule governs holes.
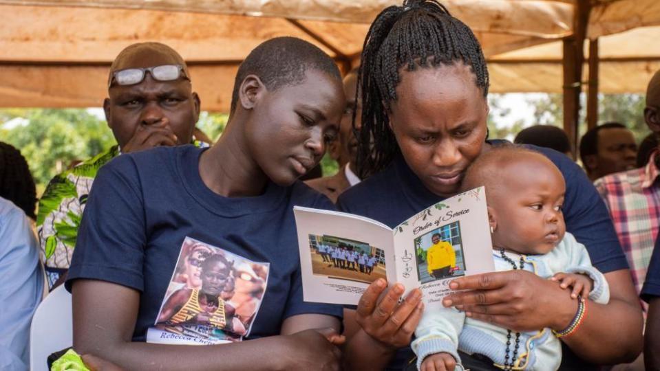
[[[655,240],[640,297],[648,303],[644,363],[646,370],[660,370],[660,238]]]

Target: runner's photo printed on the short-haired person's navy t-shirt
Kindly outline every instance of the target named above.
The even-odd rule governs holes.
[[[268,283],[267,262],[186,237],[147,342],[222,344],[248,336]]]

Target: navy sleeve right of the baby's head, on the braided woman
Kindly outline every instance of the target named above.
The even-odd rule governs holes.
[[[602,273],[628,269],[607,207],[582,168],[562,153],[533,148],[549,157],[566,180],[566,232],[571,232],[586,247],[593,266]]]

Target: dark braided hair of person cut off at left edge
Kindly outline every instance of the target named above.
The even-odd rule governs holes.
[[[36,218],[36,187],[28,161],[21,152],[0,142],[0,197],[12,201],[25,215]]]

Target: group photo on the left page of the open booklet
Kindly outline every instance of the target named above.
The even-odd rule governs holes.
[[[310,234],[309,237],[315,275],[368,284],[379,278],[387,279],[383,249],[336,236]]]

